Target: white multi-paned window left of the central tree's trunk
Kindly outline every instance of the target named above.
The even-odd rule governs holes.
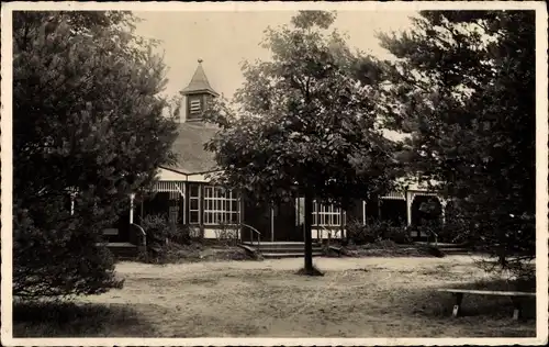
[[[240,209],[238,199],[231,190],[204,187],[204,224],[237,224]]]

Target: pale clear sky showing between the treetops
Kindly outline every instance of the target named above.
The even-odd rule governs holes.
[[[243,60],[268,59],[269,52],[259,46],[264,31],[289,24],[295,12],[212,12],[171,11],[135,12],[143,21],[138,35],[160,40],[159,49],[169,68],[165,93],[176,96],[189,83],[198,59],[203,59],[210,85],[231,98],[242,86]],[[333,27],[349,35],[348,45],[379,57],[388,57],[379,46],[376,32],[402,31],[411,25],[415,12],[339,11]]]

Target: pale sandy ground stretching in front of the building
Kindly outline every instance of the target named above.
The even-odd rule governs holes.
[[[437,288],[488,279],[470,256],[316,258],[324,277],[296,276],[303,259],[155,266],[121,262],[122,290],[82,299],[109,307],[82,336],[469,337],[535,336],[535,320],[511,320],[511,303],[452,300]],[[103,321],[108,321],[108,323]],[[76,323],[74,324],[77,325]],[[16,329],[15,329],[16,331]],[[25,333],[31,334],[31,333]]]

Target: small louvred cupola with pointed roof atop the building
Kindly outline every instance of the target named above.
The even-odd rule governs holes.
[[[202,59],[199,59],[199,66],[191,78],[187,88],[181,90],[181,94],[186,97],[187,122],[202,121],[202,113],[204,112],[209,102],[220,94],[213,90],[208,81],[208,77],[202,67]]]

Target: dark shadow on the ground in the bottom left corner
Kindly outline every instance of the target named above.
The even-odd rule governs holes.
[[[18,302],[14,337],[138,337],[154,334],[137,311],[123,304]]]

